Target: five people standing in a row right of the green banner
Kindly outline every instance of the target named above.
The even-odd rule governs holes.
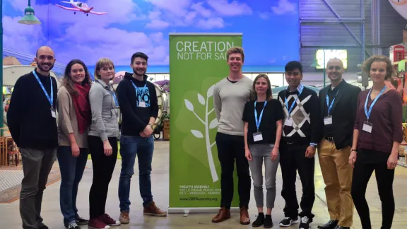
[[[242,74],[241,47],[229,49],[227,59],[229,75],[213,91],[219,121],[216,146],[221,166],[221,200],[212,222],[230,218],[236,161],[240,223],[250,223],[248,205],[253,180],[259,214],[252,226],[273,227],[271,211],[279,164],[283,177],[281,196],[285,200],[285,218],[279,225],[299,223],[300,229],[309,229],[314,218],[317,151],[330,216],[318,228],[350,228],[353,206],[362,228],[372,228],[365,192],[373,172],[382,201],[382,229],[391,228],[395,210],[394,168],[402,141],[402,99],[385,84],[395,74],[389,58],[378,55],[365,61],[363,71],[373,85],[363,91],[343,80],[340,59],[330,59],[326,74],[331,83],[319,90],[319,95],[301,83],[302,64],[290,61],[285,65],[288,87],[277,98],[273,98],[267,75],[259,74],[252,81]],[[295,190],[297,171],[302,184],[300,206]]]

